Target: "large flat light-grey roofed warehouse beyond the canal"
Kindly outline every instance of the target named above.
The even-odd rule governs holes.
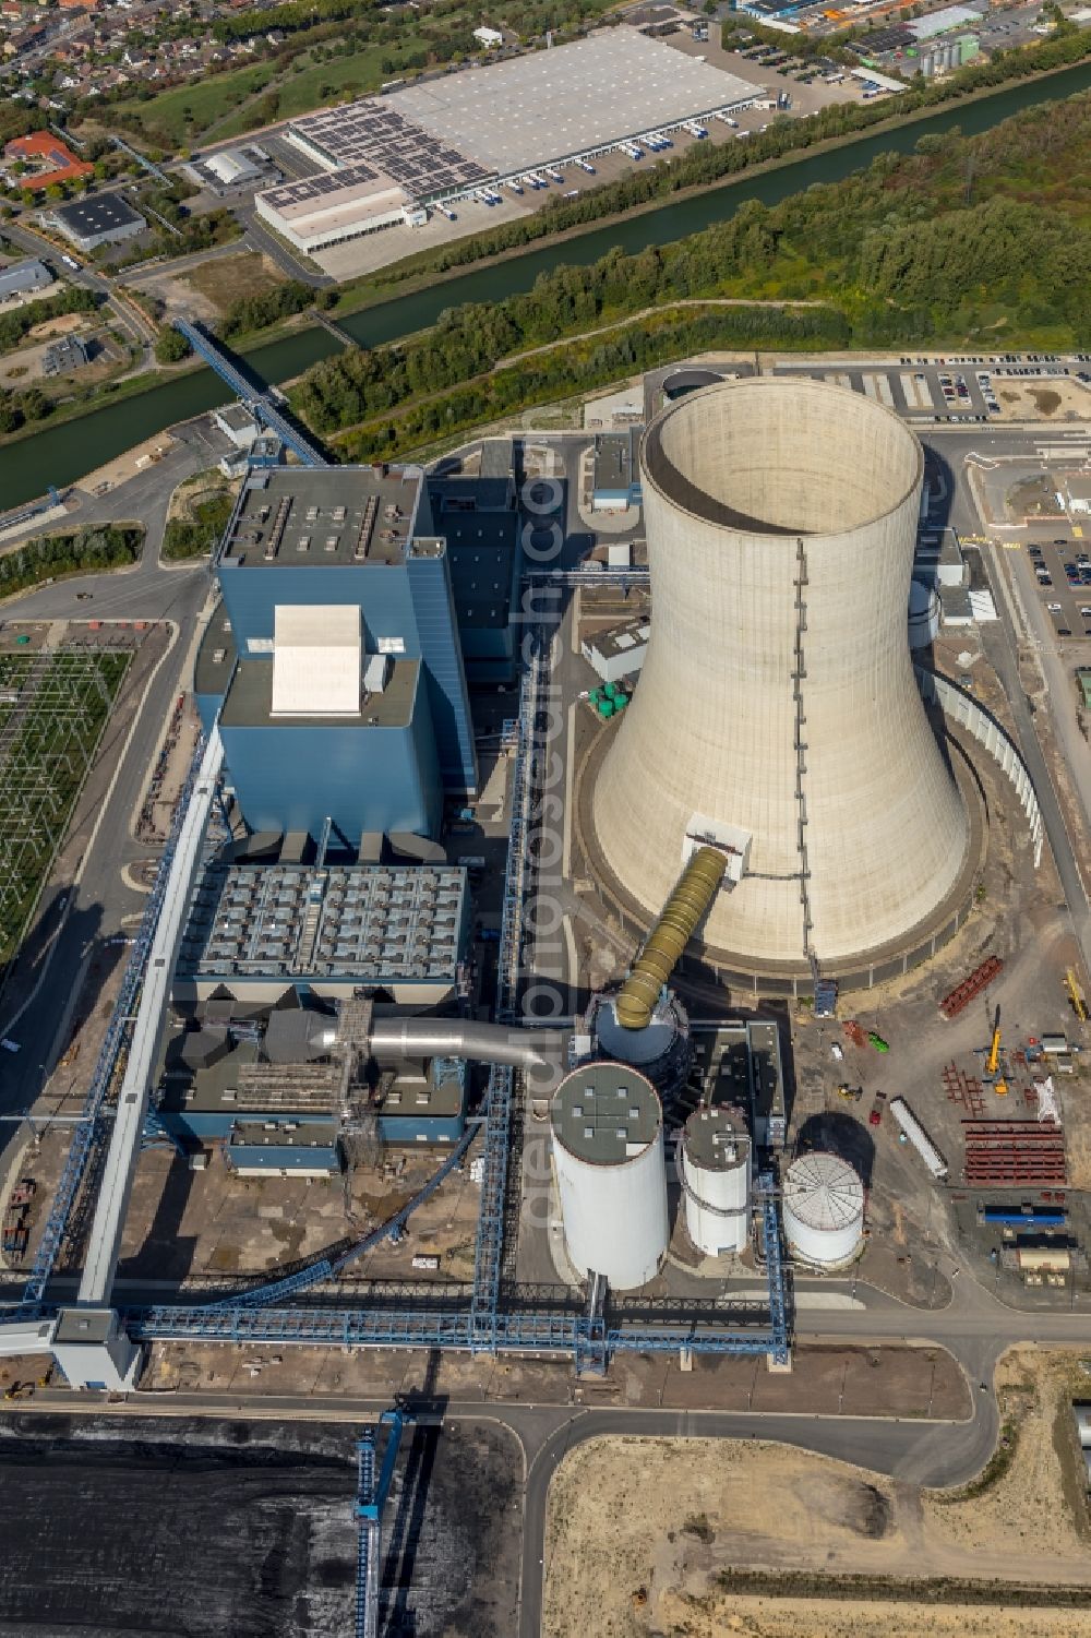
[[[590,157],[758,97],[758,87],[634,28],[424,80],[295,120],[285,138],[319,167],[257,197],[301,251],[400,223],[546,165]]]

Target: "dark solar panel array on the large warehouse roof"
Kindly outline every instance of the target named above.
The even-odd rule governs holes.
[[[342,167],[329,177],[313,179],[328,183],[318,188],[319,193],[329,192],[331,185],[346,187],[349,167],[357,165],[373,165],[414,198],[431,198],[452,188],[469,187],[488,175],[477,161],[467,159],[457,147],[444,138],[432,136],[414,120],[406,120],[388,102],[365,98],[349,108],[328,108],[306,120],[297,120],[293,131]],[[297,187],[305,185],[297,183]]]

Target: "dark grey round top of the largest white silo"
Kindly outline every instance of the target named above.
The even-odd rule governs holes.
[[[618,1166],[642,1155],[663,1124],[659,1093],[626,1063],[585,1063],[567,1075],[549,1111],[554,1137],[577,1160]]]

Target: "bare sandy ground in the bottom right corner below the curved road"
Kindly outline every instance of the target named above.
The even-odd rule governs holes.
[[[898,1600],[901,1582],[911,1590],[914,1581],[937,1577],[1050,1589],[1091,1584],[1086,1500],[1076,1482],[1083,1464],[1066,1409],[1086,1381],[1070,1355],[1009,1355],[998,1391],[1004,1437],[1014,1443],[994,1463],[991,1482],[963,1492],[921,1491],[778,1445],[636,1438],[582,1445],[550,1489],[544,1627],[550,1638],[575,1638],[586,1630],[588,1609],[596,1609],[601,1638],[1091,1633],[1091,1613],[1071,1604],[1043,1612],[1032,1600],[1024,1610],[1001,1587],[1003,1612],[957,1592],[939,1609]],[[609,1509],[603,1495],[611,1495]],[[758,1574],[752,1590],[726,1589],[719,1581],[726,1571],[790,1579],[767,1587]],[[827,1581],[814,1589],[817,1597],[791,1597],[799,1590],[791,1577],[816,1572],[883,1579],[883,1589],[845,1604]]]

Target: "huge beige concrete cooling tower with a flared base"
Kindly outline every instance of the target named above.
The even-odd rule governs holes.
[[[909,658],[921,444],[860,393],[760,378],[670,405],[641,459],[652,632],[591,793],[604,883],[647,924],[711,842],[721,965],[904,948],[970,848]]]

